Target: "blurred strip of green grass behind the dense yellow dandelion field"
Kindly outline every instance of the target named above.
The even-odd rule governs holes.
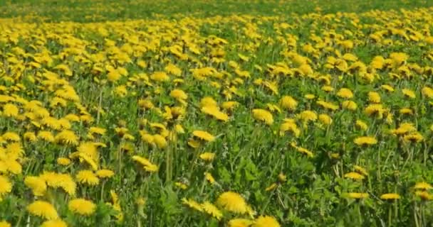
[[[0,2],[0,17],[42,16],[46,21],[105,21],[183,16],[216,16],[230,14],[281,15],[289,13],[336,13],[390,9],[414,9],[433,6],[427,0],[15,0]]]

